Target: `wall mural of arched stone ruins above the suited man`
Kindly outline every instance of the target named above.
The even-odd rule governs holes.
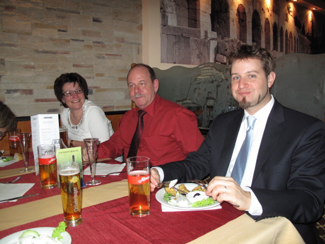
[[[291,1],[160,0],[160,62],[226,64],[245,43],[274,57],[325,53],[325,17],[306,12]]]

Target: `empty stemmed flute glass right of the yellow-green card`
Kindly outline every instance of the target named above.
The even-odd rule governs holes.
[[[86,185],[90,185],[90,186],[100,185],[102,182],[99,180],[95,180],[98,138],[85,138],[83,139],[83,141],[85,143],[86,150],[87,150],[89,167],[90,167],[90,175],[91,175],[91,180],[87,181]]]

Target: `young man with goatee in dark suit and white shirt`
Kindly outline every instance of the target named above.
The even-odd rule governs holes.
[[[242,109],[220,114],[206,140],[185,160],[151,170],[158,181],[202,179],[206,194],[229,202],[256,221],[282,216],[306,243],[321,243],[315,222],[325,198],[325,128],[321,120],[282,106],[271,94],[275,63],[264,48],[243,45],[230,56],[232,94]],[[253,141],[238,184],[231,173],[246,136],[248,115],[256,118]]]

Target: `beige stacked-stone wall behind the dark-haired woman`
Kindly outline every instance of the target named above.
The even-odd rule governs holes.
[[[0,100],[17,116],[60,113],[53,83],[87,80],[104,111],[128,110],[126,74],[142,62],[141,0],[2,0]]]

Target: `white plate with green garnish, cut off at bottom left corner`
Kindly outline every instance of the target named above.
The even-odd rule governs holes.
[[[65,231],[66,223],[56,228],[38,227],[21,230],[0,240],[0,244],[71,244],[71,235]]]

